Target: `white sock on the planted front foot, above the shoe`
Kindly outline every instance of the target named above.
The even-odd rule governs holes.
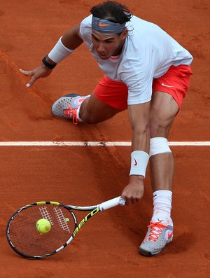
[[[172,191],[157,190],[153,193],[153,217],[152,222],[163,221],[173,225],[171,218]]]

